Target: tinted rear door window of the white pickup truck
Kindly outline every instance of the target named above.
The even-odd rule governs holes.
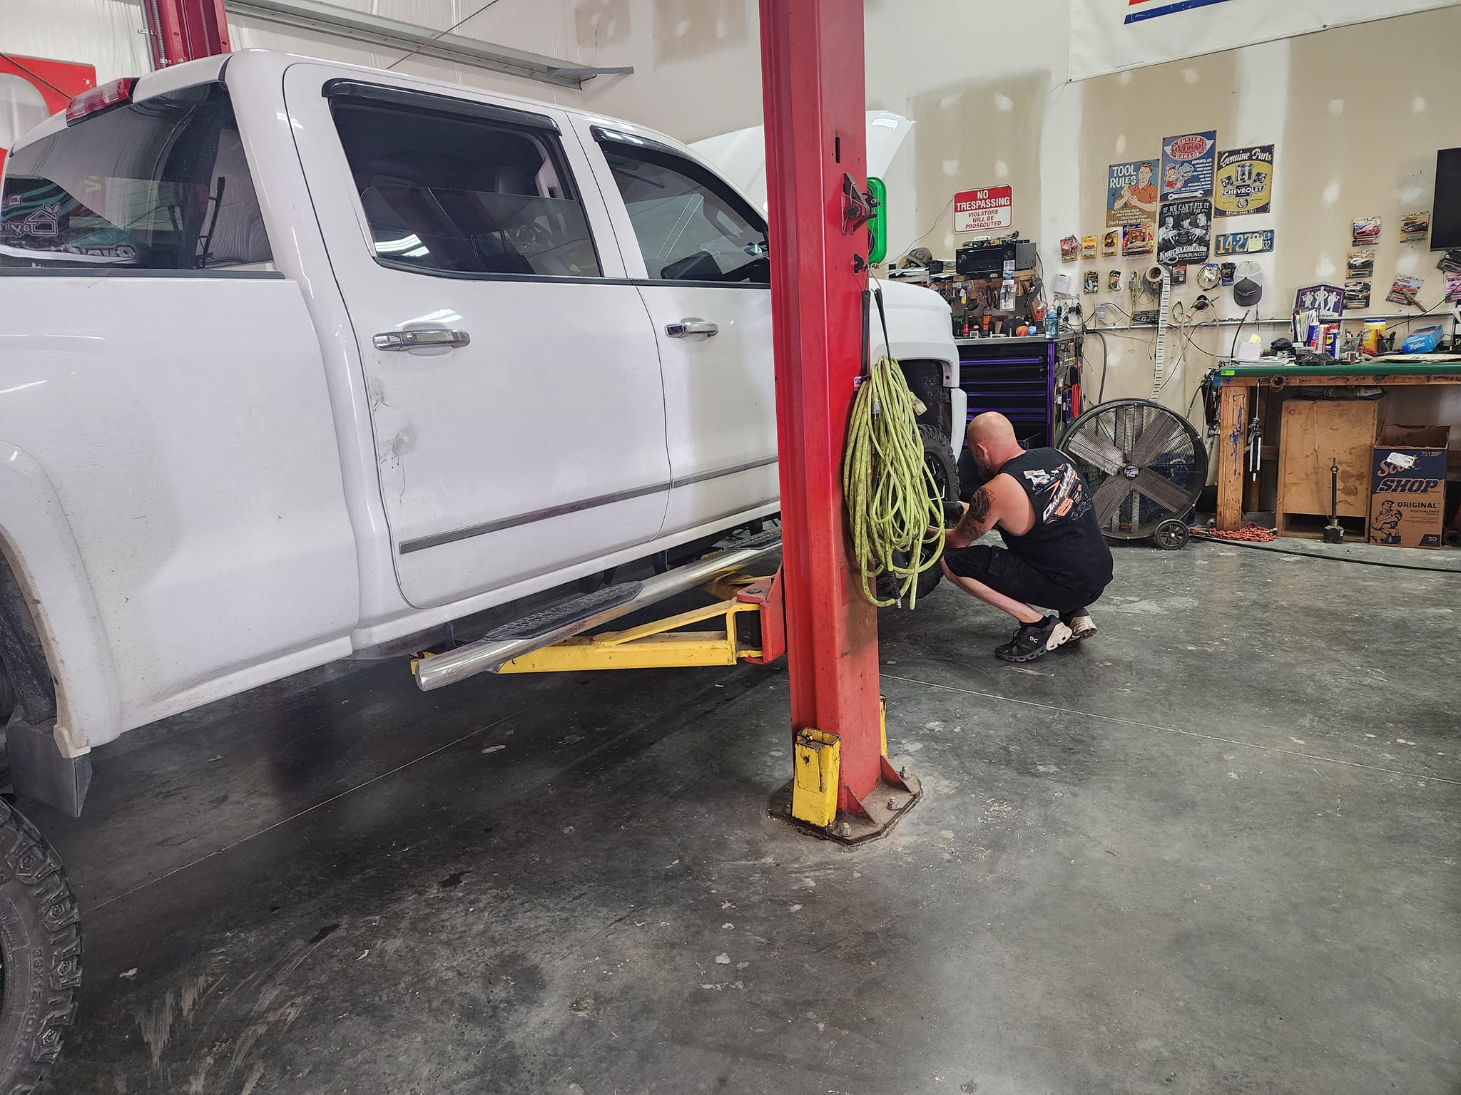
[[[336,99],[375,260],[422,273],[598,277],[558,137],[432,110]]]

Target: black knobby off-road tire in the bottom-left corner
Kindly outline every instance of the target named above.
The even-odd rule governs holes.
[[[45,838],[0,799],[0,1095],[29,1095],[61,1053],[82,983],[76,895]]]

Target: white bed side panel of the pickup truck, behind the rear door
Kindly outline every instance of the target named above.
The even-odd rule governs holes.
[[[6,311],[23,317],[0,331],[0,536],[37,585],[63,583],[56,565],[75,558],[72,580],[89,587],[28,590],[73,752],[342,657],[358,618],[298,286],[149,273],[0,276]],[[64,615],[63,597],[76,602]],[[73,631],[86,628],[101,634]]]

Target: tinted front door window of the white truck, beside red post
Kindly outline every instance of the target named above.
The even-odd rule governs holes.
[[[722,180],[671,152],[602,147],[650,277],[771,283],[766,223]]]

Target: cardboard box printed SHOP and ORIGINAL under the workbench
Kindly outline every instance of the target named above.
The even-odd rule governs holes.
[[[1382,426],[1375,442],[1370,543],[1439,548],[1451,426]]]

